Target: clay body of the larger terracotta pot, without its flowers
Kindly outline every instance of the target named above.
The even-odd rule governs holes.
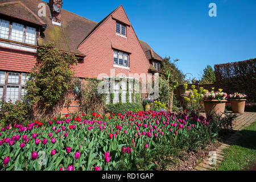
[[[222,100],[221,102],[218,100],[204,100],[204,110],[208,115],[210,113],[220,114],[225,112],[226,100]]]

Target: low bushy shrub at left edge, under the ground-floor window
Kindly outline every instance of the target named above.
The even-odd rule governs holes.
[[[23,124],[30,118],[30,107],[22,101],[12,102],[0,101],[0,121],[1,126],[5,127],[14,124]]]

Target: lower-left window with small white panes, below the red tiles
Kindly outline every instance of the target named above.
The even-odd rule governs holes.
[[[13,103],[22,100],[27,79],[27,73],[0,71],[0,100]]]

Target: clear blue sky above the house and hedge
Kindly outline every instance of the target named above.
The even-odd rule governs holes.
[[[180,59],[177,67],[193,75],[188,78],[199,78],[208,64],[256,57],[255,0],[63,2],[64,9],[96,22],[123,5],[138,38],[160,56]],[[217,17],[208,15],[212,2],[217,5]]]

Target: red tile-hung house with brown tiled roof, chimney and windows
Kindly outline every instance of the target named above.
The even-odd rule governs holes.
[[[122,5],[99,23],[62,6],[62,0],[1,1],[0,99],[22,100],[36,50],[47,42],[55,42],[56,48],[79,58],[73,67],[76,77],[139,79],[159,71],[162,57],[138,39]],[[119,102],[117,96],[114,102]]]

